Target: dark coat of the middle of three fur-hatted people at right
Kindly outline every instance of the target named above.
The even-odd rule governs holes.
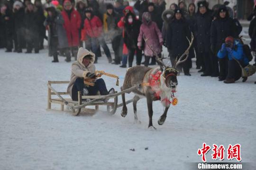
[[[197,13],[195,20],[194,33],[197,40],[197,49],[199,53],[210,52],[210,27],[212,23],[211,12]]]

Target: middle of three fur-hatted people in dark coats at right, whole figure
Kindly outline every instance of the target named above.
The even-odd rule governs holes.
[[[197,39],[197,63],[198,68],[203,72],[201,76],[211,76],[210,58],[210,27],[212,22],[211,12],[208,9],[206,0],[197,3],[198,11],[195,24],[195,36]]]

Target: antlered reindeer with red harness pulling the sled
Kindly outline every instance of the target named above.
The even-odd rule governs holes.
[[[147,39],[144,36],[144,40],[146,45]],[[184,54],[181,55],[181,57],[178,59],[176,57],[173,67],[166,66],[163,62],[164,56],[161,58],[158,57],[157,54],[155,54],[154,49],[150,47],[150,49],[153,51],[155,56],[157,57],[157,63],[160,65],[160,67],[156,68],[149,68],[145,66],[134,66],[128,69],[125,75],[125,80],[123,83],[123,86],[121,87],[121,90],[125,90],[128,88],[131,88],[135,84],[141,84],[141,87],[139,89],[135,89],[132,92],[135,93],[135,96],[133,98],[133,111],[134,111],[134,119],[135,122],[138,122],[137,118],[137,101],[140,98],[146,97],[147,102],[147,109],[148,109],[148,116],[149,116],[149,124],[148,128],[153,127],[156,129],[152,124],[152,116],[153,116],[153,108],[152,103],[153,101],[160,100],[162,105],[165,107],[164,114],[160,116],[158,119],[158,124],[163,125],[165,123],[166,114],[170,107],[170,98],[174,97],[174,92],[176,91],[176,87],[178,85],[177,81],[177,74],[178,70],[176,69],[177,66],[183,62],[185,62],[188,59],[189,49],[192,46],[192,42],[194,40],[193,34],[191,34],[191,41],[188,39],[189,46],[184,52]],[[185,59],[183,59],[183,57]],[[183,59],[183,60],[182,60]],[[158,77],[157,81],[158,84],[150,84],[149,82],[152,82],[152,80]],[[154,80],[153,80],[154,82]],[[129,92],[130,93],[130,92]],[[125,101],[125,93],[122,94],[122,102],[123,102],[123,108],[121,111],[121,116],[125,117],[127,115],[127,106]]]

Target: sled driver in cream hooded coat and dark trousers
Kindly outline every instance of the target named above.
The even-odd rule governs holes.
[[[78,100],[78,91],[83,96],[95,96],[98,91],[101,95],[113,94],[114,88],[107,90],[105,81],[97,79],[97,71],[95,71],[95,54],[85,48],[79,48],[77,53],[77,61],[72,63],[71,78],[67,88],[74,101]],[[107,100],[104,100],[107,102]]]

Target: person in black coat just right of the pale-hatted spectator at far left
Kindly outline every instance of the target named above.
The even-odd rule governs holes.
[[[26,27],[26,40],[27,40],[27,52],[32,53],[33,47],[35,53],[39,53],[39,16],[36,7],[29,2],[25,9],[25,27]]]

